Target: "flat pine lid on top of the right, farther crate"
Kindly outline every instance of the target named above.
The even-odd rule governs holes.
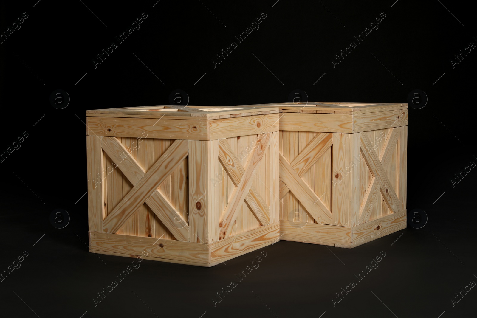
[[[330,114],[359,114],[376,113],[391,110],[407,109],[405,103],[349,103],[349,102],[308,102],[308,103],[272,103],[240,105],[278,107],[280,113],[330,113]]]

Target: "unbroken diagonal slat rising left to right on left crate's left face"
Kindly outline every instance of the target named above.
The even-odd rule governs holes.
[[[141,183],[124,197],[114,210],[104,219],[104,232],[115,233],[128,217],[151,196],[157,187],[171,174],[187,156],[187,141],[176,140],[166,153],[141,178]]]

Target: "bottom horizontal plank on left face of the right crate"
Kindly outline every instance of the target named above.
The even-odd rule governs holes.
[[[351,236],[351,227],[280,220],[280,240],[334,245],[351,244]]]

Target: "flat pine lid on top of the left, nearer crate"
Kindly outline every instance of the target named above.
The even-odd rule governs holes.
[[[252,115],[278,113],[277,106],[177,106],[156,105],[140,107],[123,107],[96,109],[86,111],[90,117],[129,117],[129,118],[169,118],[211,120]]]

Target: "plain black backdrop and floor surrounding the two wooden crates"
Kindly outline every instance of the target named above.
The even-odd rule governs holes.
[[[477,53],[450,62],[477,43],[475,11],[448,0],[275,1],[1,2],[1,32],[28,18],[0,44],[0,151],[28,137],[0,163],[0,271],[29,253],[0,282],[2,316],[475,317],[477,291],[454,307],[451,298],[477,281],[477,173],[454,187],[451,178],[477,162]],[[95,68],[143,12],[140,29]],[[259,29],[214,68],[262,12]],[[381,12],[379,29],[333,68]],[[50,103],[57,89],[71,98],[61,110]],[[424,91],[425,107],[409,107],[407,210],[424,210],[427,224],[353,249],[280,241],[216,307],[216,293],[260,251],[211,268],[146,260],[95,307],[132,259],[95,256],[85,243],[85,110],[168,104],[176,89],[191,105],[286,102],[295,89],[310,101],[407,103]],[[63,229],[50,224],[56,208],[71,216]],[[333,307],[381,251],[379,267]]]

